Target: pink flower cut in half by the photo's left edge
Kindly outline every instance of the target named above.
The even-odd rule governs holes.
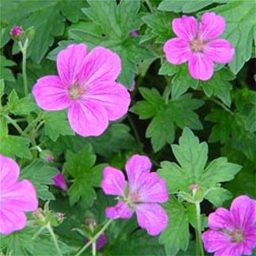
[[[19,166],[11,158],[0,155],[0,233],[8,235],[26,226],[26,214],[37,209],[35,188],[19,178]]]

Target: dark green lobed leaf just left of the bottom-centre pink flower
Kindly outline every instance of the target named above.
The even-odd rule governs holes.
[[[69,202],[74,205],[80,198],[87,205],[93,205],[96,193],[93,187],[99,187],[104,164],[95,165],[96,155],[91,145],[87,144],[82,151],[75,154],[68,151],[64,168],[75,179],[68,190]],[[95,166],[94,166],[95,165]]]

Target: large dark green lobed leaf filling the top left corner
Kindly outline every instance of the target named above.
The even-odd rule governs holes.
[[[1,40],[1,47],[10,40],[9,32],[12,26],[19,24],[26,29],[33,25],[35,27],[35,37],[30,42],[28,56],[35,62],[41,62],[48,48],[53,44],[54,37],[63,34],[65,17],[69,21],[77,22],[78,17],[82,14],[80,9],[84,6],[84,3],[83,0],[77,0],[75,3],[71,0],[2,1],[1,7],[5,12],[2,13],[1,19],[7,21],[8,26]],[[70,8],[70,5],[72,5],[72,8]],[[14,53],[18,51],[19,47],[15,42]]]

